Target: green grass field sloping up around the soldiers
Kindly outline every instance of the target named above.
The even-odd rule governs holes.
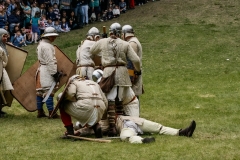
[[[0,118],[0,159],[240,159],[240,1],[148,2],[118,19],[61,34],[54,44],[74,61],[91,27],[115,21],[132,25],[143,46],[141,117],[174,128],[194,119],[193,137],[153,135],[156,142],[147,145],[71,142],[59,138],[61,120],[37,119],[14,101]],[[25,71],[37,59],[36,45],[24,49]]]

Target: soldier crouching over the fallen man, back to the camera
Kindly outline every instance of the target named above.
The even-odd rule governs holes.
[[[108,102],[104,93],[96,82],[79,75],[72,76],[69,81],[63,97],[63,107],[60,108],[62,122],[67,129],[65,136],[74,135],[73,117],[81,127],[92,128],[96,138],[101,138],[102,130],[98,122],[106,112]]]

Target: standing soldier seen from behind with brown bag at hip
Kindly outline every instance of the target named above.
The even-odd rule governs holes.
[[[109,93],[108,99],[108,120],[110,130],[108,136],[116,136],[115,117],[116,114],[123,114],[123,95],[132,86],[128,70],[127,57],[132,61],[136,74],[141,75],[140,60],[128,42],[120,39],[122,27],[119,23],[110,26],[110,36],[97,41],[90,49],[94,55],[102,53],[103,78],[109,77],[115,71],[115,84]],[[116,110],[116,111],[115,111]]]

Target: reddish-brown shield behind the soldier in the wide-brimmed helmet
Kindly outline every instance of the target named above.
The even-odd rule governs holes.
[[[70,76],[75,74],[76,70],[72,71],[74,63],[57,46],[55,46],[55,53],[58,71],[66,74],[60,79],[59,89]],[[14,98],[29,112],[37,110],[35,75],[38,66],[39,62],[37,61],[13,83],[14,90],[11,91]]]

